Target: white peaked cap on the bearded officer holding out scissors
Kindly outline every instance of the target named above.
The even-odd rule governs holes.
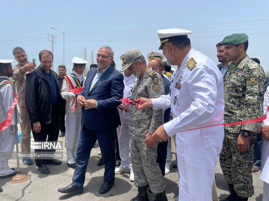
[[[192,32],[189,30],[179,29],[179,28],[161,29],[161,30],[158,30],[157,33],[161,40],[161,45],[159,47],[159,50],[162,49],[162,46],[164,46],[164,43],[167,41],[188,38],[188,35],[192,34]]]

